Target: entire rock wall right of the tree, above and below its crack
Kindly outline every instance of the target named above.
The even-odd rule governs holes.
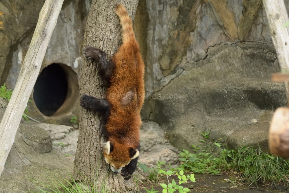
[[[146,45],[138,38],[146,63],[142,118],[158,122],[180,149],[199,144],[203,130],[233,147],[266,147],[273,111],[287,100],[283,84],[270,81],[280,69],[262,1],[140,3],[147,21],[146,34],[145,25],[135,27],[147,37]]]

